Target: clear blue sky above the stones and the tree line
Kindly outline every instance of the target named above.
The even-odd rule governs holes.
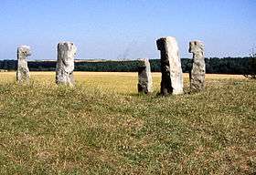
[[[176,37],[181,57],[193,39],[206,57],[243,57],[256,46],[256,0],[1,0],[0,24],[0,59],[19,45],[56,59],[59,41],[77,58],[156,58],[161,36]]]

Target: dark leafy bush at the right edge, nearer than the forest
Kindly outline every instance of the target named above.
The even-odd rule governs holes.
[[[251,49],[251,55],[248,61],[248,71],[244,74],[244,77],[256,79],[256,52],[255,48]]]

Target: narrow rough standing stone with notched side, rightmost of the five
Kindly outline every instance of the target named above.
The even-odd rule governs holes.
[[[188,52],[193,53],[193,66],[189,73],[190,90],[192,92],[202,91],[205,88],[206,74],[204,45],[200,41],[191,41]]]

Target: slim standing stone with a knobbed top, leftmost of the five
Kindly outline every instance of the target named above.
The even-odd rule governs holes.
[[[27,67],[27,57],[31,56],[31,50],[29,46],[17,47],[17,71],[16,80],[19,83],[29,81],[29,69]]]

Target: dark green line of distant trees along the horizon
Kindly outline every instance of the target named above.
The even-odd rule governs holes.
[[[205,58],[206,71],[209,74],[240,74],[247,75],[253,72],[255,66],[251,65],[251,57],[210,57]],[[160,72],[160,59],[150,59],[151,70]],[[255,63],[252,62],[253,64]],[[30,71],[54,71],[56,61],[28,61]],[[141,64],[138,60],[130,61],[75,61],[75,71],[99,72],[136,72]],[[188,73],[192,67],[192,59],[181,59],[182,70]],[[0,60],[0,69],[14,71],[17,67],[16,60]]]

